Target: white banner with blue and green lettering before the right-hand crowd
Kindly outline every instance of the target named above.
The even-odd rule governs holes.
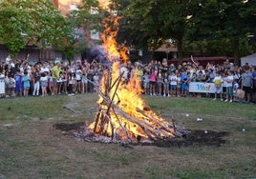
[[[215,93],[214,83],[190,82],[189,92]]]

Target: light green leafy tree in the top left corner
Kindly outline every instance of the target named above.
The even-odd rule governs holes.
[[[26,46],[58,43],[65,20],[52,1],[5,0],[0,4],[0,39],[12,55]]]

